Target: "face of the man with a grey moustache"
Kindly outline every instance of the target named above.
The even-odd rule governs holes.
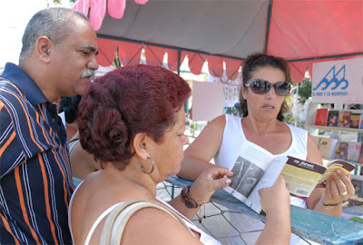
[[[83,94],[91,82],[93,71],[98,69],[95,55],[98,54],[97,36],[93,27],[83,19],[74,17],[74,31],[68,34],[63,44],[54,45],[52,55],[52,77],[54,89],[59,96]]]

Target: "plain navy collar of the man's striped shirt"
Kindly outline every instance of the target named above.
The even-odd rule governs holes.
[[[6,63],[4,73],[1,76],[15,83],[33,105],[49,102],[34,80],[16,64]]]

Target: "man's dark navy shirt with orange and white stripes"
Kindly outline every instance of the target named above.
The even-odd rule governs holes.
[[[0,77],[0,243],[70,244],[74,185],[64,125],[30,76]]]

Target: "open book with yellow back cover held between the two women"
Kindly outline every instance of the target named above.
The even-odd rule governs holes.
[[[327,169],[322,165],[293,157],[275,157],[256,144],[245,142],[231,167],[231,171],[234,172],[231,184],[224,190],[244,202],[253,211],[260,213],[262,208],[259,190],[271,187],[279,174],[284,176],[291,195],[306,199],[315,187],[318,187],[318,183],[319,187],[324,187],[327,178],[338,168],[348,174],[355,166],[346,161],[335,160],[329,162]]]

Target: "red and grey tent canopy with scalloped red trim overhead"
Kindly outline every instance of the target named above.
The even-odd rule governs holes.
[[[132,53],[127,50],[137,54],[143,46],[147,53],[146,59],[150,57],[152,64],[157,64],[163,53],[168,53],[168,57],[172,57],[172,61],[168,61],[169,66],[172,65],[171,69],[175,71],[177,50],[163,48],[163,51],[162,48],[150,45],[163,44],[207,53],[194,55],[194,62],[189,61],[191,71],[199,73],[201,60],[210,58],[210,72],[219,76],[223,69],[222,62],[226,63],[226,73],[229,74],[234,74],[236,65],[242,64],[241,60],[228,59],[228,56],[244,59],[255,52],[266,52],[287,59],[292,79],[300,82],[306,67],[311,67],[318,59],[334,55],[337,57],[333,57],[333,60],[345,59],[353,57],[347,54],[363,54],[361,0],[135,1],[144,5],[126,1],[122,18],[116,19],[110,16],[117,12],[110,5],[114,6],[117,1],[124,2],[109,0],[107,13],[105,0],[79,0],[74,5],[75,9],[89,14],[92,24],[93,18],[98,23],[101,20],[101,28],[93,27],[98,30],[97,34],[107,37],[99,38],[102,54],[99,61],[103,65],[113,62],[117,46],[123,50],[120,58],[125,62],[133,60]],[[82,5],[79,2],[83,2]],[[117,38],[149,44],[113,40]],[[191,54],[189,50],[182,50],[181,53],[184,56],[186,53]],[[122,55],[126,54],[124,59]]]

